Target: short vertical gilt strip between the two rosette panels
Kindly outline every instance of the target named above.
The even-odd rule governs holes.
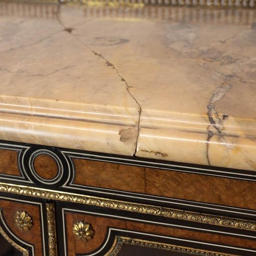
[[[49,255],[57,256],[57,239],[54,203],[46,203]]]

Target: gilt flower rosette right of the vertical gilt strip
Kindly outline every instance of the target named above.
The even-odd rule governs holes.
[[[73,227],[73,233],[77,239],[82,240],[84,243],[90,241],[94,235],[92,226],[85,221],[77,222]]]

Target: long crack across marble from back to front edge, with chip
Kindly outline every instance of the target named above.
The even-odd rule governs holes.
[[[126,80],[120,75],[120,73],[118,72],[118,70],[115,68],[115,66],[108,60],[106,59],[104,56],[102,56],[102,54],[99,54],[97,53],[96,51],[94,51],[91,47],[89,47],[87,44],[85,44],[83,41],[81,41],[78,37],[76,37],[75,35],[73,35],[70,31],[70,28],[66,27],[60,20],[59,18],[59,11],[60,11],[60,5],[58,7],[58,10],[57,12],[55,13],[56,15],[56,19],[58,21],[58,23],[63,27],[63,29],[65,31],[67,31],[71,36],[73,36],[76,40],[78,40],[84,47],[86,47],[87,49],[89,49],[93,54],[95,54],[96,56],[102,58],[105,60],[105,63],[107,66],[109,67],[112,67],[112,69],[114,69],[117,73],[117,75],[121,78],[121,81],[125,82],[125,85],[126,85],[126,91],[129,93],[129,95],[135,100],[135,102],[137,103],[137,105],[139,106],[139,111],[138,111],[138,129],[137,129],[137,135],[136,135],[136,142],[135,142],[135,150],[134,150],[134,153],[133,155],[136,155],[137,153],[137,148],[138,148],[138,141],[139,141],[139,133],[140,133],[140,119],[141,119],[141,112],[142,112],[142,108],[141,108],[141,105],[139,104],[139,102],[135,99],[135,97],[132,95],[132,93],[130,92],[129,88],[132,88],[131,86],[128,85],[128,83],[126,82]],[[72,28],[72,30],[75,29],[75,28]],[[136,126],[135,126],[136,127]],[[131,132],[131,128],[128,129],[128,130],[120,130],[119,131],[119,135],[121,134],[125,134],[125,136],[122,138],[122,136],[120,137],[120,141],[131,141],[131,139],[134,137],[133,136],[133,132]],[[127,135],[131,135],[131,138],[127,138]]]

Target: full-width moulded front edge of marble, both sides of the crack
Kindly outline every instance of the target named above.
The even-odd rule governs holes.
[[[175,118],[170,117],[170,113],[165,113],[164,116],[157,111],[142,111],[138,133],[139,113],[136,109],[131,109],[129,114],[126,112],[125,118],[124,110],[119,112],[119,115],[114,115],[117,112],[109,108],[108,117],[100,106],[84,105],[84,108],[81,108],[77,103],[51,102],[54,104],[49,108],[48,100],[35,104],[37,99],[30,99],[30,103],[37,105],[32,108],[25,104],[27,100],[13,99],[11,104],[9,99],[8,105],[5,105],[2,99],[1,139],[107,154],[136,155],[167,161],[256,170],[255,139],[243,133],[243,127],[236,126],[238,124],[235,121],[233,122],[236,125],[231,127],[236,128],[234,131],[237,131],[237,136],[230,136],[232,129],[227,129],[227,134],[213,134],[209,139],[209,123],[205,116],[183,115],[184,119],[177,113],[173,113]],[[63,106],[66,106],[66,109],[62,108]],[[99,116],[93,114],[97,110]],[[250,135],[254,135],[253,129],[249,131]]]

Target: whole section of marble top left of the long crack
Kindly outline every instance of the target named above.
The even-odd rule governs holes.
[[[0,138],[134,155],[140,108],[117,70],[56,14],[22,10],[0,16]]]

